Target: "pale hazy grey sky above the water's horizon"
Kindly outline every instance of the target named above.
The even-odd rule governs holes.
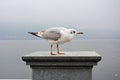
[[[82,38],[120,38],[120,0],[0,0],[0,39],[57,26],[83,31]]]

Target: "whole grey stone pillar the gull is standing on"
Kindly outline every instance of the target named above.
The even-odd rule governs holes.
[[[71,51],[64,55],[34,52],[22,57],[32,68],[32,80],[92,80],[92,68],[101,60],[94,51]]]

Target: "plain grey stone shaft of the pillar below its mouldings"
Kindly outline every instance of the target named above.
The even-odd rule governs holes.
[[[91,80],[91,68],[33,69],[34,80]]]

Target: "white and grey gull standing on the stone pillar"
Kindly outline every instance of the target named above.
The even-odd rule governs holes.
[[[52,51],[52,47],[56,44],[57,54],[60,53],[59,44],[63,44],[71,41],[76,35],[83,34],[83,32],[78,32],[76,29],[68,29],[65,27],[52,27],[39,32],[28,32],[34,36],[46,39],[50,43],[50,54],[55,55]]]

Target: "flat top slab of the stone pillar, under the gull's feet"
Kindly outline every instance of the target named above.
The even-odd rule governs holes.
[[[97,62],[101,56],[95,51],[64,52],[63,55],[50,55],[49,52],[34,52],[22,57],[24,61],[63,62],[63,61],[94,61]]]

